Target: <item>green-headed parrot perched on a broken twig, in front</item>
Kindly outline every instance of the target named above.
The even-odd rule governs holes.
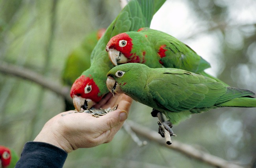
[[[113,94],[125,93],[163,113],[169,119],[169,127],[165,129],[171,135],[172,124],[178,124],[193,113],[227,106],[256,107],[252,91],[227,87],[214,79],[182,69],[121,64],[108,72],[106,83]]]

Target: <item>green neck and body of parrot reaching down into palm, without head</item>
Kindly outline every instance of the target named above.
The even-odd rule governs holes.
[[[113,68],[105,49],[109,39],[125,31],[137,31],[140,27],[149,27],[153,15],[164,2],[165,0],[130,0],[106,29],[93,49],[90,68],[82,73],[95,78],[94,81],[100,89],[99,95],[109,92],[106,87],[106,73]]]

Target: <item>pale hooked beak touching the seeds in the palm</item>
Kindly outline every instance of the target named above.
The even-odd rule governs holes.
[[[77,111],[83,111],[91,109],[96,103],[91,99],[85,99],[74,95],[73,104]]]

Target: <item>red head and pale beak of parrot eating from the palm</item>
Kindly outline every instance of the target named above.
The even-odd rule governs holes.
[[[91,75],[81,75],[73,83],[70,96],[77,111],[90,109],[102,99],[100,89]]]

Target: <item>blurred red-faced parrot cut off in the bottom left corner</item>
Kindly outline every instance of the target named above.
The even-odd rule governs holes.
[[[14,150],[0,145],[0,166],[1,168],[14,168],[19,160]]]

